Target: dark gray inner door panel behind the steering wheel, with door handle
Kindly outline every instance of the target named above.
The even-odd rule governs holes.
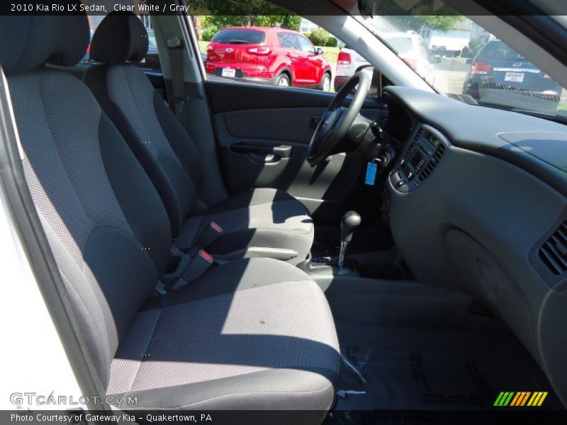
[[[278,188],[300,198],[315,222],[324,224],[336,224],[354,205],[363,217],[376,217],[380,197],[369,196],[366,164],[356,152],[333,155],[317,167],[305,160],[314,127],[333,94],[210,79],[209,95],[231,193]],[[377,119],[384,111],[382,101],[369,99],[363,114]]]

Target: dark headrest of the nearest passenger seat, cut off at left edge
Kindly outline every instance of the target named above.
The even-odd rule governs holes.
[[[6,74],[45,63],[71,67],[82,59],[88,45],[85,13],[0,16],[0,64]]]

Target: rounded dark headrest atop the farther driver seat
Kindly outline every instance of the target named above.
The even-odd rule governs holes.
[[[91,59],[106,64],[140,62],[148,42],[146,28],[134,13],[108,13],[91,40]]]

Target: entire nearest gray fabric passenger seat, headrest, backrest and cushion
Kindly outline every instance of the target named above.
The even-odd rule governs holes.
[[[172,248],[162,200],[84,83],[45,67],[88,39],[86,16],[0,18],[26,179],[103,387],[138,394],[128,409],[325,411],[337,336],[298,268],[233,261],[151,296]]]

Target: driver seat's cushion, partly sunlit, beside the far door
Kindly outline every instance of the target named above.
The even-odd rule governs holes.
[[[189,217],[176,240],[180,249],[189,248],[209,222],[223,227],[207,251],[213,255],[247,247],[293,249],[291,263],[303,261],[313,244],[313,220],[305,205],[286,192],[257,188],[237,193],[199,215]]]

